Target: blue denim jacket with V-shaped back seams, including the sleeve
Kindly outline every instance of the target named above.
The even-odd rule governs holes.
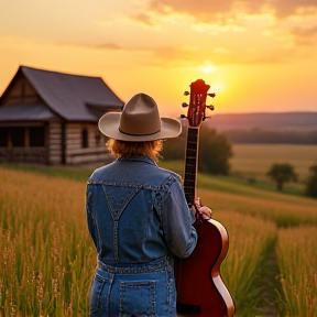
[[[181,177],[147,156],[118,158],[88,179],[88,229],[103,264],[186,258],[197,243],[194,220]]]

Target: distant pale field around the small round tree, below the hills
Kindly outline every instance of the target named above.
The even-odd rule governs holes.
[[[266,172],[273,163],[289,163],[294,166],[298,181],[296,183],[285,183],[283,192],[300,196],[305,192],[305,181],[309,173],[309,167],[317,164],[316,145],[233,144],[232,151],[230,175],[222,177],[225,181],[223,185],[228,184],[228,178],[231,178],[230,183],[247,184],[252,188],[275,192],[275,184],[266,176]],[[166,165],[164,160],[161,164],[170,166],[170,163]],[[184,162],[174,162],[172,167],[182,175]],[[204,178],[204,175],[200,175],[200,177]],[[221,176],[215,178],[219,181]],[[208,182],[210,183],[211,181],[209,179]],[[218,182],[217,184],[220,185]],[[226,190],[225,187],[222,186],[222,189]]]

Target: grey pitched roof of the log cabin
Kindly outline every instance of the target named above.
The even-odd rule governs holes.
[[[18,120],[22,119],[17,118],[21,116],[24,120],[35,119],[33,116],[37,116],[37,120],[47,119],[55,113],[67,121],[97,121],[101,117],[100,114],[110,110],[120,111],[123,107],[123,101],[108,87],[101,77],[64,74],[26,66],[19,67],[10,85],[0,98],[0,105],[6,92],[11,85],[13,85],[14,78],[21,73],[28,78],[50,109],[44,111],[42,107],[41,116],[43,116],[43,118],[41,118],[41,116],[39,118],[36,111],[32,111],[31,109],[26,110],[29,107],[23,108],[14,105],[15,111],[13,111],[13,109],[9,110],[13,105],[10,105],[10,107],[0,107],[1,112],[3,112],[0,113],[1,121],[6,120],[4,117],[8,117],[8,120],[12,120],[14,112],[15,119]],[[4,109],[7,107],[8,109]],[[39,105],[35,107],[39,108]],[[18,109],[26,111],[24,114],[21,114]]]

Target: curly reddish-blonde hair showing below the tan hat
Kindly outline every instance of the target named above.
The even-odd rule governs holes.
[[[157,162],[163,149],[163,141],[128,142],[109,139],[106,145],[114,157],[131,158],[145,155]]]

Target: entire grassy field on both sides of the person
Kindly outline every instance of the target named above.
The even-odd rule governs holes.
[[[277,154],[282,149],[267,151],[270,146],[237,146],[233,175],[198,175],[203,204],[229,234],[221,276],[236,316],[315,317],[317,200],[286,188],[275,192],[265,171],[280,157],[293,162],[304,179],[316,146],[300,146],[305,157],[296,156],[296,146],[293,156]],[[183,173],[183,162],[160,165]],[[1,317],[87,316],[96,267],[85,215],[86,179],[92,170],[0,165]],[[255,182],[249,182],[249,172]]]

